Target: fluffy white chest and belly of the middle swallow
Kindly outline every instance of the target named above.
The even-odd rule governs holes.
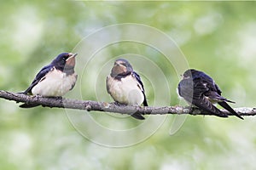
[[[108,94],[119,103],[126,105],[141,105],[143,103],[142,87],[131,75],[120,80],[108,76],[107,88]]]

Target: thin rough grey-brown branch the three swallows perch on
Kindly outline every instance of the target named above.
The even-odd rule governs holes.
[[[133,105],[116,105],[114,103],[97,102],[91,100],[65,99],[65,98],[46,98],[41,96],[32,96],[26,94],[16,94],[8,91],[0,90],[0,98],[14,100],[16,103],[26,103],[29,105],[42,105],[44,107],[58,107],[66,109],[77,109],[85,111],[106,111],[120,114],[140,113],[143,115],[212,115],[206,111],[201,111],[196,108],[182,107],[182,106],[133,106]],[[234,109],[241,116],[255,116],[256,108],[236,108]],[[221,110],[232,116],[230,112]],[[216,116],[216,115],[212,115]]]

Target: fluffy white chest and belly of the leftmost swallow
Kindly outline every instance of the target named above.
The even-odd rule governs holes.
[[[76,81],[77,75],[75,73],[67,76],[66,73],[54,68],[32,88],[32,94],[49,97],[62,96],[73,88]]]

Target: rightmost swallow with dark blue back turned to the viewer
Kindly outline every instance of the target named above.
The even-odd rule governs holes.
[[[203,111],[208,111],[216,116],[228,117],[212,104],[218,103],[225,110],[243,119],[234,111],[227,102],[235,103],[221,96],[218,85],[202,71],[190,69],[183,74],[183,80],[178,83],[178,94],[188,103],[195,105]]]

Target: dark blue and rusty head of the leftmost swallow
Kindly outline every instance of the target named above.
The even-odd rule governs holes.
[[[56,69],[60,71],[71,71],[73,70],[77,54],[72,53],[62,53],[59,54],[52,62],[51,65],[55,66]]]

